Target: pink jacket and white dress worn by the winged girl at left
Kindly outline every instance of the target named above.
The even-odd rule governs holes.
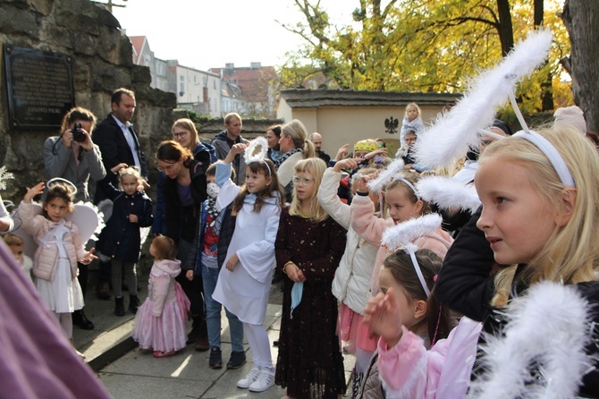
[[[87,255],[77,225],[62,219],[53,222],[34,216],[36,206],[22,201],[19,215],[22,228],[33,236],[38,249],[33,261],[36,288],[49,310],[72,313],[83,308],[83,294],[77,280],[77,259]]]

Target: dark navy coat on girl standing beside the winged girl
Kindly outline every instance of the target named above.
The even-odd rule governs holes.
[[[139,227],[152,225],[152,200],[145,192],[127,195],[111,183],[104,183],[108,199],[113,200],[113,215],[106,222],[97,242],[97,250],[105,256],[123,262],[137,262],[141,240]],[[129,215],[138,216],[138,223],[131,223]]]

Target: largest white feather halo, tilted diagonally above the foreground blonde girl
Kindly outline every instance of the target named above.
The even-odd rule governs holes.
[[[552,34],[537,30],[519,42],[493,69],[481,72],[451,111],[440,115],[434,125],[418,134],[414,145],[418,164],[451,166],[478,142],[478,130],[490,126],[495,109],[513,94],[516,83],[543,64]]]

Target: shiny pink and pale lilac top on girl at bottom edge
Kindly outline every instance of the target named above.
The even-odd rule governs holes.
[[[401,327],[400,342],[389,348],[378,341],[378,370],[385,394],[394,399],[457,399],[466,396],[482,328],[469,318],[447,339],[426,351],[422,338]]]

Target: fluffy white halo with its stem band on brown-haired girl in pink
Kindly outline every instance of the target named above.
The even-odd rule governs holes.
[[[425,276],[418,265],[418,260],[416,259],[418,247],[414,244],[414,241],[428,233],[433,233],[441,226],[442,221],[443,218],[438,214],[428,214],[410,219],[399,225],[387,228],[381,240],[381,243],[389,250],[404,249],[409,253],[409,258],[412,259],[412,265],[414,265],[418,280],[420,280],[420,284],[422,284],[427,297],[430,296],[431,292],[428,289],[428,285],[426,285]]]

